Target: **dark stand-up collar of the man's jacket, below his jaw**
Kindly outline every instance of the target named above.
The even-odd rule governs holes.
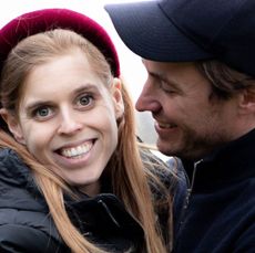
[[[200,161],[183,161],[188,178],[195,171],[194,188],[211,189],[255,176],[255,129],[218,148]]]

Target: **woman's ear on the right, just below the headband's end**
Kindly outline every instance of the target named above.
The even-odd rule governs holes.
[[[114,102],[116,119],[121,118],[124,114],[124,103],[123,103],[121,88],[122,88],[121,80],[116,77],[113,78],[112,96]]]

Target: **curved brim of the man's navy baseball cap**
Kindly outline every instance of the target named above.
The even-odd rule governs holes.
[[[135,54],[159,62],[212,59],[165,15],[157,1],[106,4],[113,25]]]

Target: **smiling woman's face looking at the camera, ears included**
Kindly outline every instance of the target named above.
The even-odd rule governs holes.
[[[9,118],[16,139],[44,165],[89,194],[118,144],[123,114],[119,80],[109,91],[81,52],[34,67],[23,86],[19,119]],[[11,117],[11,116],[9,116]]]

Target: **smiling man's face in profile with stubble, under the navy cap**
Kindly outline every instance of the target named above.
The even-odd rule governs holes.
[[[234,138],[236,97],[212,97],[211,84],[194,63],[143,63],[149,76],[136,109],[152,113],[160,151],[197,159]]]

